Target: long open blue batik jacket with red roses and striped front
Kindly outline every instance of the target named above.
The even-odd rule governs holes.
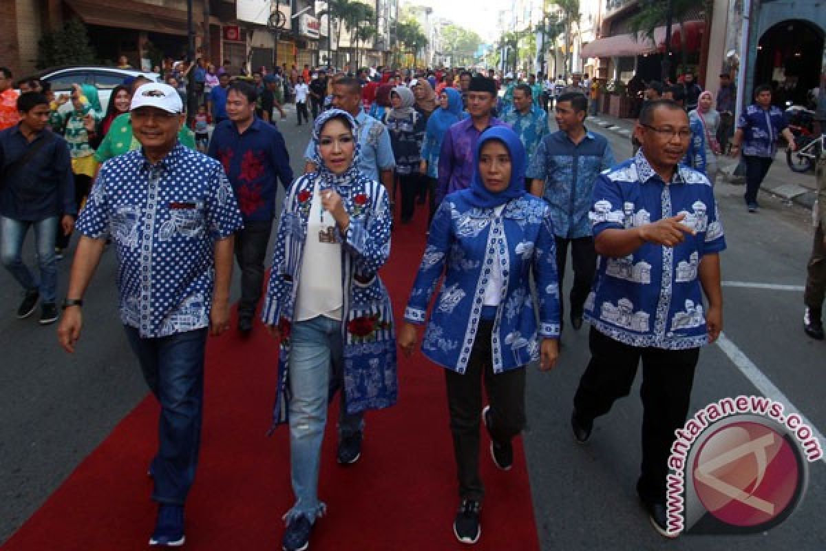
[[[341,234],[337,226],[335,230],[342,251],[342,392],[347,411],[356,413],[396,403],[396,327],[387,288],[377,275],[390,256],[392,213],[385,188],[359,176],[321,178],[317,173],[307,173],[292,183],[284,199],[262,316],[264,323],[277,325],[281,331],[273,426],[287,421],[290,328],[316,178],[320,180],[319,192],[332,188],[341,196],[350,218],[346,233]]]

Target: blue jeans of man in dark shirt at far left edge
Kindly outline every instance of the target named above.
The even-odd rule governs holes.
[[[23,264],[23,240],[29,228],[35,230],[37,262],[40,264],[40,283],[31,270]],[[14,220],[0,216],[0,260],[2,265],[17,279],[26,291],[40,291],[42,302],[55,302],[57,292],[57,260],[55,260],[55,234],[58,217],[40,221]]]

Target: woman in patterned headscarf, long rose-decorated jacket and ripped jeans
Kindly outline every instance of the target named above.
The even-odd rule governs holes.
[[[325,513],[317,494],[330,388],[341,392],[339,463],[354,463],[363,430],[358,414],[392,406],[397,387],[392,305],[378,278],[390,255],[387,192],[358,170],[349,113],[321,113],[312,139],[318,168],[292,183],[284,199],[263,309],[264,324],[280,340],[273,428],[290,425],[296,502],[284,515],[288,550],[306,549]]]

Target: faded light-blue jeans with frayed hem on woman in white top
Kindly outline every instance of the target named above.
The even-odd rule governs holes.
[[[325,508],[318,499],[318,472],[330,376],[344,368],[341,322],[325,316],[297,321],[290,340],[290,470],[296,504],[287,521],[303,515],[314,522]],[[340,395],[339,437],[344,437],[363,430],[363,414],[347,415],[343,389]]]

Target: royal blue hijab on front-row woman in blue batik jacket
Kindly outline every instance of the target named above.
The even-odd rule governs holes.
[[[479,173],[479,153],[482,146],[488,141],[501,141],[510,153],[510,183],[501,192],[491,192],[482,182],[482,175]],[[473,177],[470,188],[461,191],[465,198],[477,208],[496,208],[509,202],[511,199],[518,199],[525,195],[525,146],[514,131],[509,126],[493,126],[482,132],[473,154]]]

